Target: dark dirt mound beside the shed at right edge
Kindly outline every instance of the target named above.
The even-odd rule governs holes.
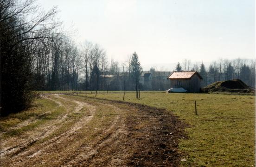
[[[247,86],[240,79],[217,81],[207,85],[202,89],[203,92],[239,92],[239,93],[253,93],[255,89]]]

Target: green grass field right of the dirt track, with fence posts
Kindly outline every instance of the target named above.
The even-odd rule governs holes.
[[[78,95],[85,96],[84,91],[81,93]],[[87,96],[95,97],[95,92],[87,92]],[[97,98],[122,101],[123,94],[98,91]],[[141,100],[137,100],[135,93],[129,91],[125,101],[164,107],[190,124],[186,129],[189,139],[179,143],[179,148],[187,154],[184,166],[255,165],[254,95],[141,91]],[[198,115],[195,115],[194,101],[197,101]]]

